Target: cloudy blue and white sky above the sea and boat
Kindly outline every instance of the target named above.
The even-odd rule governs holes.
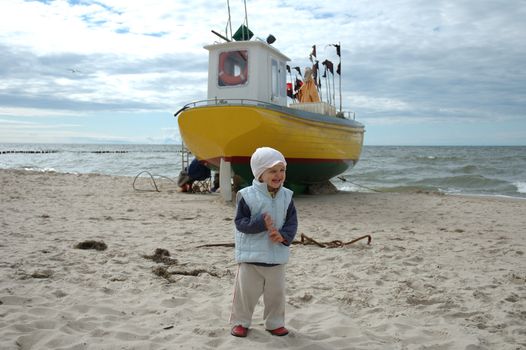
[[[230,0],[234,31],[242,0]],[[526,145],[526,1],[248,0],[305,67],[342,46],[367,145]],[[0,143],[178,142],[226,0],[0,0]]]

